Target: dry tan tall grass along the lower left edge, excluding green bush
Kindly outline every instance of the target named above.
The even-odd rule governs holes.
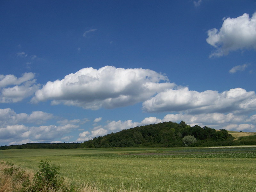
[[[0,162],[0,192],[102,192],[92,183],[83,183],[79,185],[63,180],[63,182],[53,185],[52,182],[38,182],[38,172],[20,169],[20,166],[14,166],[9,162]],[[140,192],[139,187],[131,188],[127,191],[124,188],[116,192]]]

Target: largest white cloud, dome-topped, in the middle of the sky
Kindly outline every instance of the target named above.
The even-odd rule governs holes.
[[[62,80],[47,82],[36,91],[33,101],[52,100],[52,104],[64,103],[93,110],[116,108],[145,101],[174,86],[166,76],[149,69],[83,68]]]

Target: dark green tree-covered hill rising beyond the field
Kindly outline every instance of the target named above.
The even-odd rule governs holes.
[[[180,124],[164,122],[139,126],[95,137],[85,141],[82,148],[222,146],[233,145],[233,140],[227,130],[191,127],[181,121]]]

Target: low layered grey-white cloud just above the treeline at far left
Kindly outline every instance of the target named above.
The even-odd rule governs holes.
[[[17,114],[10,108],[0,109],[0,143],[24,144],[28,142],[51,142],[62,138],[67,141],[73,136],[65,136],[72,130],[79,127],[77,123],[81,121],[70,120],[67,124],[61,125],[42,125],[52,120],[53,115],[43,111],[33,111],[31,114]],[[30,125],[32,124],[32,126]]]

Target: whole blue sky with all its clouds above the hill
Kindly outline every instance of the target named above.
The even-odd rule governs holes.
[[[135,126],[256,132],[256,2],[0,1],[0,145]]]

